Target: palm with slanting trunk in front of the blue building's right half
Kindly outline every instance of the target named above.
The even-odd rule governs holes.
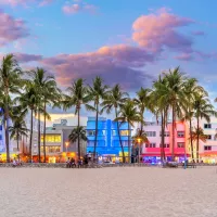
[[[115,85],[101,104],[103,106],[103,111],[105,110],[106,113],[110,114],[112,108],[114,107],[115,117],[117,118],[118,110],[126,102],[128,97],[129,94],[127,92],[123,92],[119,85]],[[124,151],[122,137],[120,137],[119,122],[117,122],[117,133],[119,138],[119,144],[122,148],[122,153],[123,153],[123,162],[125,163],[125,151]]]

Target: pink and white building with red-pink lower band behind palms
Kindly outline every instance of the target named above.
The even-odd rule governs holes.
[[[165,130],[165,155],[169,161],[171,158],[173,130],[171,124],[168,124]],[[162,126],[157,123],[146,123],[144,127],[150,143],[142,148],[142,156],[144,161],[158,161],[161,157],[161,131]],[[183,161],[184,148],[187,156],[190,156],[189,127],[183,122],[176,123],[175,129],[175,156],[178,161]]]

